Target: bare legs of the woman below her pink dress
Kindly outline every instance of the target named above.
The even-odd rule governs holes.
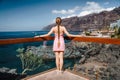
[[[57,70],[62,71],[63,68],[63,52],[55,52]]]

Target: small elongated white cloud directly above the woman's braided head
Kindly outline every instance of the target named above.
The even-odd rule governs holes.
[[[79,10],[79,7],[76,6],[73,9],[68,9],[68,10],[52,10],[52,13],[54,14],[73,14],[75,13],[77,10]]]

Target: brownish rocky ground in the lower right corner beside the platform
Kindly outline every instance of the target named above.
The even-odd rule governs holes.
[[[84,55],[84,62],[81,62],[83,58],[80,59],[76,71],[88,75],[91,80],[96,80],[96,78],[98,80],[119,80],[120,46],[97,44],[96,47],[97,49]]]

